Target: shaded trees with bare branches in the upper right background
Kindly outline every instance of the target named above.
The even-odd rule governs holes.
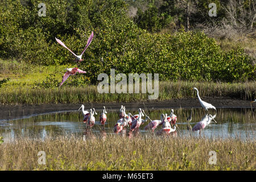
[[[229,24],[247,30],[256,26],[255,0],[126,0],[130,7],[138,9],[135,23],[148,31],[162,28],[197,28]],[[209,16],[210,3],[216,4],[216,15]],[[134,13],[135,14],[135,13]],[[188,24],[189,23],[189,24]]]

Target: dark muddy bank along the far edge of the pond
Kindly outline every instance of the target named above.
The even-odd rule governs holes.
[[[237,100],[233,98],[202,98],[216,108],[251,108],[250,101]],[[145,101],[147,109],[167,109],[167,108],[198,108],[201,107],[197,98],[174,99],[170,101]],[[108,102],[108,103],[86,103],[85,109],[93,107],[101,110],[102,106],[106,106],[107,110],[119,110],[124,105],[127,110],[144,108],[143,102]],[[46,105],[1,105],[0,119],[16,119],[28,115],[52,113],[58,111],[78,110],[81,104],[46,104]],[[255,107],[255,105],[253,105]]]

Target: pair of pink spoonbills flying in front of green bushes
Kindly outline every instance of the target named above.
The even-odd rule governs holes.
[[[93,32],[92,34],[90,34],[90,37],[89,39],[87,40],[87,44],[84,48],[84,51],[82,51],[81,55],[77,56],[75,53],[73,53],[71,51],[71,49],[69,49],[63,42],[61,42],[61,40],[55,38],[57,43],[59,43],[61,46],[65,47],[66,49],[68,49],[68,51],[70,51],[74,56],[76,56],[76,62],[77,63],[80,63],[81,61],[83,61],[82,59],[82,55],[84,54],[85,50],[88,48],[88,46],[90,45],[90,43],[92,42],[92,39],[93,39]],[[60,86],[64,83],[64,81],[66,81],[68,79],[69,76],[71,75],[75,75],[76,72],[79,72],[79,73],[86,73],[85,71],[82,71],[81,69],[79,68],[67,68],[67,72],[65,72],[63,78],[62,78],[62,81],[61,81],[61,84]]]

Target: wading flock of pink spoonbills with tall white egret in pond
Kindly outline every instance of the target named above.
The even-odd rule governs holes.
[[[192,89],[195,89],[197,91],[197,97],[199,98],[199,102],[200,102],[201,106],[206,111],[208,111],[208,109],[216,110],[216,107],[201,100],[201,98],[199,96],[199,91],[197,90],[197,88],[192,88]],[[94,114],[97,115],[95,109],[92,108],[89,110],[85,110],[84,105],[82,105],[79,108],[79,110],[80,109],[82,109],[82,113],[84,114],[84,118],[83,118],[84,123],[86,123],[87,127],[92,128],[95,123]],[[105,122],[107,119],[106,114],[107,114],[107,112],[106,112],[106,108],[104,106],[102,113],[100,115],[100,122],[101,122],[102,128],[104,128],[104,126],[105,126]],[[144,116],[146,116],[146,118],[142,119],[142,117],[144,117]],[[207,115],[205,115],[204,118],[201,119],[200,122],[196,123],[196,125],[192,128],[191,125],[189,125],[189,122],[191,122],[191,119],[192,119],[192,110],[191,110],[191,114],[187,118],[187,122],[188,122],[187,129],[192,130],[192,131],[199,130],[199,133],[201,134],[201,130],[203,130],[205,128],[205,126],[209,125],[209,123],[212,120],[215,121],[214,120],[215,117],[216,117],[216,114],[214,116],[207,114]],[[161,125],[162,125],[162,129],[159,130],[157,132],[157,134],[170,134],[170,133],[176,131],[176,128],[179,129],[179,127],[177,127],[177,125],[176,125],[177,116],[174,114],[173,109],[171,109],[170,115],[161,114],[160,119],[155,119],[154,121],[152,121],[150,119],[150,117],[148,117],[148,115],[141,108],[138,109],[138,114],[132,115],[131,113],[126,114],[125,106],[121,106],[121,108],[119,110],[119,119],[118,119],[117,123],[115,123],[115,125],[114,125],[114,133],[121,133],[121,131],[125,128],[129,128],[130,132],[138,133],[139,127],[141,125],[144,125],[144,123],[146,123],[148,120],[150,121],[150,123],[148,123],[148,125],[146,125],[144,127],[144,130],[150,130],[152,133],[154,133],[156,127],[161,126]]]

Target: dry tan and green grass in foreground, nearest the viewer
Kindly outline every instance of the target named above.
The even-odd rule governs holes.
[[[0,170],[255,170],[255,142],[121,136],[26,138],[0,144]],[[46,165],[38,152],[46,152]],[[209,152],[216,151],[216,164]]]

